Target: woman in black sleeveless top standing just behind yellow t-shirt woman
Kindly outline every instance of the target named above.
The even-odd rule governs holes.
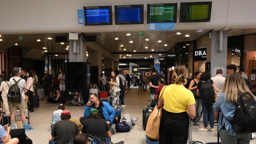
[[[195,126],[200,126],[199,124],[199,118],[201,116],[201,112],[202,112],[202,105],[201,105],[201,101],[200,101],[200,97],[198,97],[197,95],[197,84],[200,80],[200,76],[201,76],[202,72],[201,71],[197,71],[195,72],[195,79],[193,79],[190,84],[188,89],[190,91],[192,91],[196,104],[195,104],[195,108],[196,108],[196,117],[195,117],[195,122],[194,125]]]

